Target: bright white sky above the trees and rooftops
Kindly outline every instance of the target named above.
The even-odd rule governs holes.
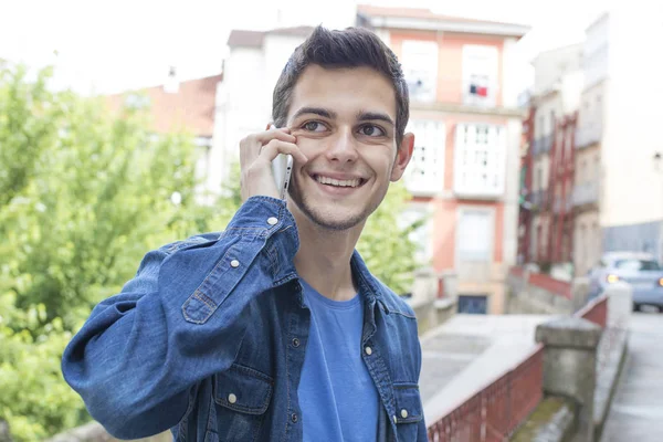
[[[57,87],[115,93],[162,84],[170,65],[181,80],[218,74],[232,29],[275,28],[278,8],[288,24],[305,21],[312,8],[339,1],[355,0],[0,0],[0,59],[33,67],[54,64]],[[608,7],[606,0],[359,2],[530,25],[518,44],[523,83],[532,80],[528,61],[582,41],[585,29]]]

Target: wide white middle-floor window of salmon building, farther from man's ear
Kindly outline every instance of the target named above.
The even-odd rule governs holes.
[[[470,197],[504,193],[505,128],[485,124],[456,125],[454,191]]]

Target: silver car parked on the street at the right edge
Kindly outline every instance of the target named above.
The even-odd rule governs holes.
[[[618,281],[633,290],[633,309],[652,305],[663,312],[663,269],[649,253],[610,252],[589,272],[590,298],[600,295]]]

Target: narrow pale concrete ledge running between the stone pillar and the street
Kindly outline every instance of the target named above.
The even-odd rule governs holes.
[[[610,335],[612,334],[612,335]],[[603,340],[604,339],[604,340]],[[603,425],[610,412],[610,404],[617,391],[619,378],[629,355],[629,330],[606,329],[602,341],[599,344],[599,360],[601,365],[597,376],[594,391],[594,441],[601,440]],[[601,352],[601,346],[612,345],[613,350]],[[603,359],[604,358],[604,359]]]

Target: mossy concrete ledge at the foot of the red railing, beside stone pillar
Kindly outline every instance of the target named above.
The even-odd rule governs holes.
[[[568,442],[576,431],[575,406],[565,399],[548,397],[509,439],[513,442]]]

